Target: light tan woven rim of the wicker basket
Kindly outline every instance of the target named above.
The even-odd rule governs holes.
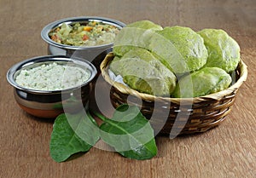
[[[106,55],[105,59],[102,60],[101,63],[101,72],[102,72],[102,77],[114,88],[118,89],[121,93],[127,94],[127,95],[135,95],[137,97],[140,97],[143,100],[166,100],[166,101],[172,101],[173,103],[180,103],[180,102],[193,102],[193,103],[198,103],[204,100],[221,100],[224,98],[226,95],[230,95],[231,93],[235,93],[236,91],[241,87],[241,84],[246,81],[247,79],[247,65],[240,60],[239,64],[236,68],[236,71],[239,70],[240,75],[236,81],[236,83],[233,83],[228,89],[224,89],[222,91],[219,91],[217,93],[213,93],[210,95],[203,95],[203,96],[198,96],[195,98],[170,98],[170,97],[162,97],[162,96],[155,96],[155,95],[149,95],[149,94],[144,94],[140,93],[139,91],[135,89],[131,89],[127,86],[125,86],[122,83],[118,83],[113,81],[109,75],[108,75],[108,65],[111,60],[113,60],[113,52],[108,53]],[[111,59],[111,60],[110,60]]]

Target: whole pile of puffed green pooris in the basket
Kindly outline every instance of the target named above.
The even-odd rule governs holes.
[[[166,26],[141,20],[115,39],[110,70],[149,95],[189,98],[227,89],[240,48],[223,30]]]

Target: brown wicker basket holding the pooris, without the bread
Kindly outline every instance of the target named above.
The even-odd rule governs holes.
[[[113,60],[109,53],[101,64],[102,77],[112,86],[110,98],[114,107],[124,103],[137,105],[150,119],[158,135],[177,136],[205,132],[224,121],[236,99],[236,92],[247,78],[247,66],[240,61],[236,69],[236,83],[212,95],[195,98],[157,97],[130,89],[114,82],[108,75],[108,65]]]

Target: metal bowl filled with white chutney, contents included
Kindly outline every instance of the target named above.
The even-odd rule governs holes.
[[[55,118],[84,108],[96,73],[88,60],[46,55],[15,64],[7,72],[7,80],[24,111],[38,118]]]

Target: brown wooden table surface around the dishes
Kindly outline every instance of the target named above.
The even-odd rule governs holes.
[[[256,177],[255,0],[0,0],[0,177]],[[200,135],[156,138],[156,157],[137,161],[93,147],[64,163],[49,156],[53,122],[34,118],[16,104],[6,72],[16,62],[47,55],[40,32],[73,16],[161,26],[221,28],[241,46],[248,78],[224,123]]]

